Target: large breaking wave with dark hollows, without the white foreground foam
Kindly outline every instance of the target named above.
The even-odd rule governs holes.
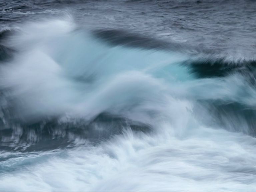
[[[106,139],[127,125],[152,130],[159,121],[173,121],[175,102],[187,103],[177,107],[185,111],[204,106],[210,125],[228,130],[224,115],[231,112],[225,106],[237,103],[233,118],[239,116],[247,126],[233,130],[254,134],[254,124],[241,111],[249,108],[255,116],[256,93],[246,75],[254,79],[255,61],[197,57],[177,47],[173,51],[175,46],[166,42],[116,30],[85,31],[64,20],[1,34],[8,38],[1,55],[16,51],[0,67],[5,149],[35,149],[36,143],[51,140],[58,148],[76,137]],[[219,115],[222,111],[221,118],[209,106]],[[94,133],[98,124],[112,128]],[[62,142],[56,146],[56,140]]]

